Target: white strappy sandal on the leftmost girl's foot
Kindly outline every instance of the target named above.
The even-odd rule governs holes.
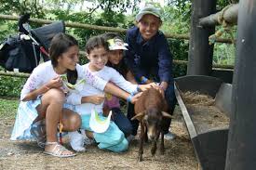
[[[52,156],[56,156],[59,158],[67,158],[67,157],[72,157],[75,156],[76,154],[70,150],[67,150],[65,147],[63,147],[62,145],[60,145],[58,142],[47,142],[47,145],[55,145],[53,147],[53,149],[51,151],[44,151],[44,153],[48,154],[48,155],[52,155]],[[64,152],[69,152],[69,153],[64,153]]]

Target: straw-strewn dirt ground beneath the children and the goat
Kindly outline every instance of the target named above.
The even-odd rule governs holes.
[[[198,163],[188,136],[179,107],[175,110],[171,131],[176,135],[165,141],[165,154],[156,150],[150,153],[151,145],[144,145],[143,161],[138,162],[139,139],[133,140],[127,152],[114,153],[100,150],[96,145],[87,146],[87,151],[73,158],[56,158],[43,153],[34,141],[9,140],[14,120],[0,118],[0,169],[148,169],[148,170],[197,170]],[[70,149],[68,143],[65,146]]]

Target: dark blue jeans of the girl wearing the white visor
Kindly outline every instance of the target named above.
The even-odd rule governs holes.
[[[119,108],[112,109],[112,121],[115,122],[126,137],[132,133],[132,125],[126,115]]]

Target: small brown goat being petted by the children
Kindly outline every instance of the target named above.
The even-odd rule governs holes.
[[[141,124],[141,141],[139,150],[139,161],[142,161],[143,141],[149,138],[153,140],[151,149],[152,155],[155,155],[156,142],[161,134],[160,153],[164,154],[164,132],[162,129],[163,117],[172,118],[168,114],[168,104],[159,90],[151,87],[141,94],[141,97],[135,102],[135,116],[131,120],[137,119]]]

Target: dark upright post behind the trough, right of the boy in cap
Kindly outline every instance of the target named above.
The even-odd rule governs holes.
[[[216,0],[193,1],[187,74],[211,73],[213,46],[209,46],[209,35],[215,32],[215,26],[203,28],[199,26],[199,19],[215,12]]]

